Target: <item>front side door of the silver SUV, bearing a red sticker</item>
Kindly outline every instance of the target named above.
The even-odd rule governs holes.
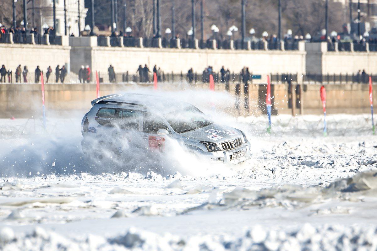
[[[172,135],[164,120],[153,113],[143,112],[141,140],[143,147],[150,151],[163,151],[165,149],[166,137]],[[159,129],[166,129],[169,135],[158,135]]]

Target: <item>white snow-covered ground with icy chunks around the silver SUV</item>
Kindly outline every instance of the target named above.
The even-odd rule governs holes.
[[[368,114],[218,120],[253,159],[174,169],[89,166],[80,117],[0,120],[1,250],[377,248],[377,139]],[[372,170],[371,172],[366,172]],[[353,177],[352,179],[348,179]],[[339,181],[339,179],[341,179]]]

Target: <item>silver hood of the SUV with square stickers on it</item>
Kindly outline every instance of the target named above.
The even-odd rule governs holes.
[[[188,132],[182,132],[179,135],[189,138],[195,138],[200,141],[209,141],[215,143],[222,143],[235,138],[242,138],[240,130],[224,125],[211,124],[199,129]]]

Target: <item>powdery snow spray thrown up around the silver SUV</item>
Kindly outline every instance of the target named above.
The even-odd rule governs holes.
[[[187,101],[196,105],[212,120],[224,121],[224,114],[215,112],[213,105],[225,109],[232,106],[233,99],[226,92],[211,92],[206,90],[184,90],[172,92],[152,92],[145,89],[133,90],[133,93],[156,94],[166,99]],[[208,97],[211,97],[209,99]],[[90,104],[88,104],[88,108]],[[228,107],[228,108],[227,108]],[[145,151],[145,149],[131,150],[127,137],[118,137],[123,145],[123,154],[120,158],[109,149],[101,145],[102,141],[91,142],[101,150],[101,158],[86,158],[81,151],[81,119],[83,114],[70,114],[67,118],[54,118],[54,111],[47,111],[47,132],[41,128],[41,122],[29,120],[3,120],[4,124],[17,124],[14,130],[7,131],[6,138],[0,138],[0,175],[2,176],[34,176],[34,175],[69,175],[74,173],[118,173],[139,172],[147,175],[148,172],[167,176],[178,171],[182,175],[205,176],[227,172],[226,168],[210,167],[201,163],[187,149],[173,142],[167,151]],[[12,124],[12,125],[13,125]],[[35,129],[37,125],[38,129]],[[33,127],[34,126],[34,127]],[[22,129],[21,129],[22,128]],[[0,128],[1,130],[1,128]],[[150,150],[150,149],[148,149]],[[152,155],[151,155],[152,153]],[[98,156],[97,156],[98,157]],[[218,166],[218,165],[217,165]]]

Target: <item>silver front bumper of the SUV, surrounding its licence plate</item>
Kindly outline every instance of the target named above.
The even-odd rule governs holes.
[[[210,161],[212,163],[238,164],[240,162],[243,162],[251,158],[250,146],[251,146],[250,141],[247,141],[247,143],[243,144],[242,146],[228,150],[228,151],[195,152],[195,154],[198,155],[199,158]],[[239,152],[244,152],[245,153],[244,157],[237,158],[234,160],[230,159],[231,155],[237,154]]]

